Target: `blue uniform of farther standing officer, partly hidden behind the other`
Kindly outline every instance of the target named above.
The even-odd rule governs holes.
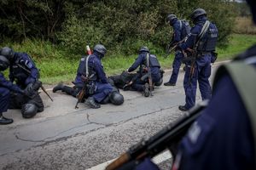
[[[173,36],[172,36],[172,43],[180,42],[184,37],[187,35],[183,34],[183,24],[181,20],[174,19],[171,23],[173,27]],[[177,76],[179,72],[180,65],[182,65],[183,60],[183,53],[180,49],[176,49],[175,51],[175,57],[173,59],[172,63],[172,76],[170,77],[169,82],[172,84],[176,84],[177,82]]]

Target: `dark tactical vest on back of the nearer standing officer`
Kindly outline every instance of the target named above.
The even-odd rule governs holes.
[[[198,44],[197,51],[199,52],[211,52],[214,51],[218,40],[218,29],[214,24],[210,24],[207,31],[201,37]]]

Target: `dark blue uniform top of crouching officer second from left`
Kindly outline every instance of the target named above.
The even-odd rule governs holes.
[[[15,53],[9,68],[10,81],[15,81],[20,88],[26,88],[29,83],[34,83],[39,78],[38,68],[26,53]]]

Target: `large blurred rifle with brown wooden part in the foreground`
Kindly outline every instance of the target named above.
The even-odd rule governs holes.
[[[195,105],[189,112],[180,116],[176,122],[169,124],[154,134],[154,136],[131,146],[129,150],[123,153],[119,158],[110,163],[106,170],[114,170],[125,165],[130,161],[143,161],[146,157],[154,157],[163,150],[171,150],[172,146],[177,144],[189,130],[189,127],[195,122],[195,119],[201,116],[208,104],[208,100],[204,100],[200,105]]]

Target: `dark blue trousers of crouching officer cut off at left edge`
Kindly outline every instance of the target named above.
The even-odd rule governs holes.
[[[3,113],[9,108],[10,91],[8,88],[0,87],[0,113]]]

